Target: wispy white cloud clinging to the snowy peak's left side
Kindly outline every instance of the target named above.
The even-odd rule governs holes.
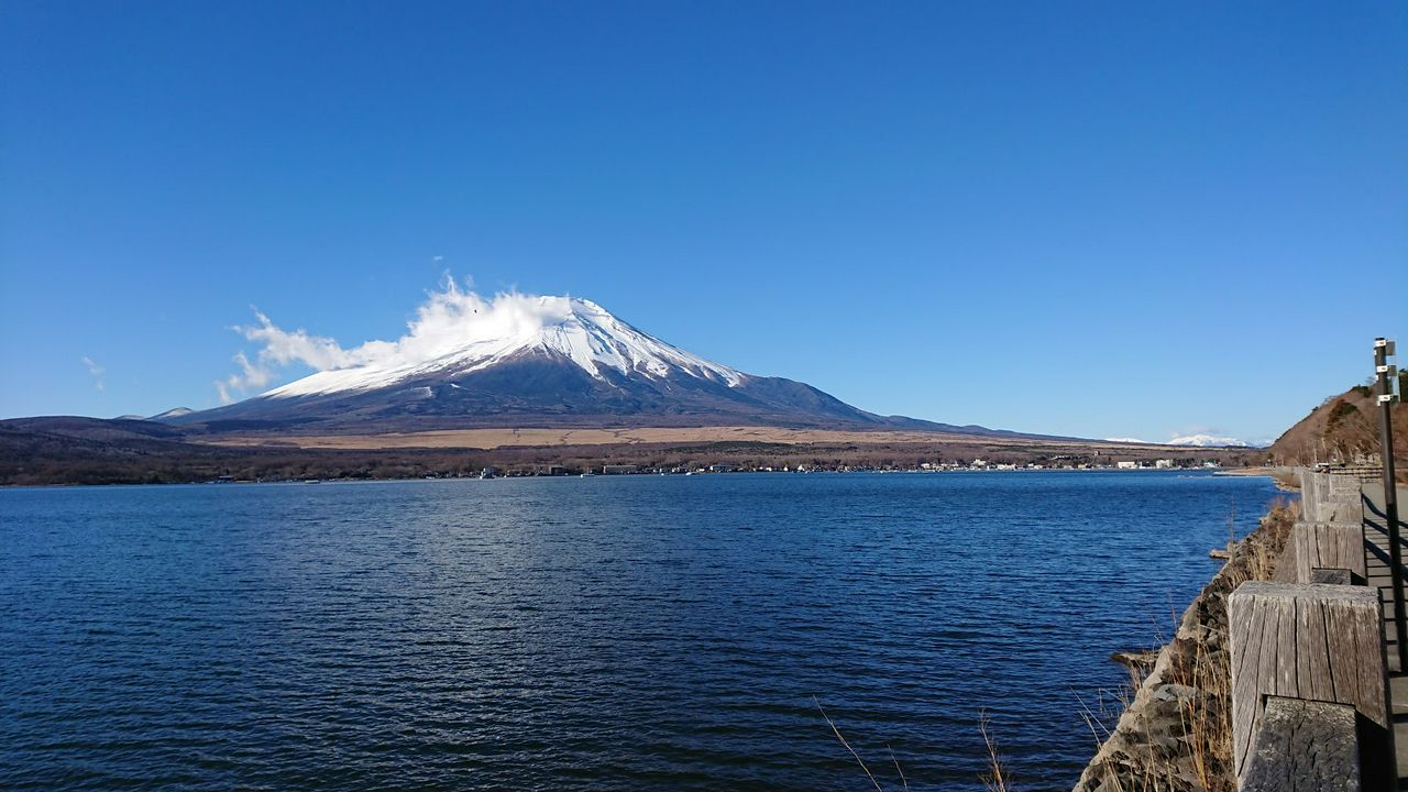
[[[466,283],[469,280],[466,279]],[[503,338],[566,318],[563,300],[541,300],[518,292],[501,292],[484,299],[449,276],[438,290],[429,292],[407,323],[406,334],[396,341],[365,341],[342,347],[337,340],[314,335],[301,327],[284,330],[255,309],[258,324],[234,327],[259,345],[251,359],[245,352],[234,357],[238,372],[215,382],[220,400],[228,404],[237,395],[263,389],[290,365],[315,371],[353,366],[397,368],[432,361],[479,340]]]

